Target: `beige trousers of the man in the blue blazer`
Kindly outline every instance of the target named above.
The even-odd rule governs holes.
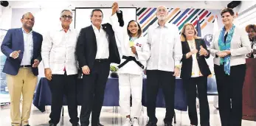
[[[38,77],[32,73],[31,68],[20,68],[18,74],[7,74],[7,86],[10,94],[10,118],[13,126],[28,125],[32,99]],[[20,100],[22,94],[22,112]]]

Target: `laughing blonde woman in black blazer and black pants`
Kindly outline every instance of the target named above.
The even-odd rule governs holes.
[[[206,58],[210,52],[203,39],[197,36],[193,24],[184,24],[181,30],[181,45],[183,57],[181,59],[181,78],[187,94],[188,114],[190,125],[198,125],[196,112],[196,89],[200,107],[201,126],[210,125],[210,111],[207,99],[207,77],[211,74]]]

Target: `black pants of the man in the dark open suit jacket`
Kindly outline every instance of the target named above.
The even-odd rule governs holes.
[[[83,74],[83,102],[80,112],[80,122],[83,126],[89,125],[91,115],[91,124],[100,122],[100,111],[103,106],[105,93],[105,83],[108,80],[110,63],[94,62],[90,69],[90,74]]]

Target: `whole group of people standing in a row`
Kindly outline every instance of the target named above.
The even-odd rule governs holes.
[[[156,126],[156,96],[159,88],[165,97],[165,126],[171,126],[174,116],[174,93],[176,77],[180,75],[187,94],[190,125],[198,125],[196,96],[200,102],[200,125],[210,126],[210,110],[207,99],[207,77],[212,74],[205,59],[214,57],[214,71],[218,87],[219,111],[222,126],[241,126],[242,88],[246,71],[246,57],[255,56],[255,44],[249,43],[245,30],[235,26],[234,12],[221,11],[224,27],[214,33],[210,49],[197,36],[193,24],[184,24],[179,35],[175,24],[167,23],[168,10],[159,6],[157,21],[148,28],[148,37],[142,36],[137,21],[124,26],[122,10],[115,2],[112,6],[110,24],[102,24],[103,12],[91,11],[91,25],[77,32],[72,29],[72,11],[60,13],[61,26],[43,36],[32,30],[35,18],[26,13],[21,18],[22,28],[9,29],[1,45],[7,56],[3,71],[11,99],[13,126],[30,126],[28,119],[32,97],[37,83],[38,64],[42,60],[44,72],[52,92],[50,126],[60,121],[65,94],[72,126],[79,125],[77,117],[76,80],[77,71],[83,71],[83,102],[80,125],[102,126],[100,111],[103,106],[105,83],[108,80],[110,63],[120,64],[120,108],[126,116],[125,126],[138,126],[142,110],[143,71],[147,74],[146,126]],[[250,40],[255,41],[255,26],[246,27]],[[254,37],[251,37],[254,35]],[[122,46],[122,58],[117,49],[116,38]],[[182,66],[181,66],[182,63]],[[181,71],[180,71],[181,69]],[[23,95],[22,114],[19,111]],[[130,97],[132,96],[132,108]]]

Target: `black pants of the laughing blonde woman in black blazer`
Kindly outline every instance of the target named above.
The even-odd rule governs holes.
[[[187,94],[188,115],[191,125],[198,125],[196,112],[196,88],[200,106],[201,126],[210,126],[210,110],[207,99],[207,77],[190,77],[183,80],[183,85]]]

